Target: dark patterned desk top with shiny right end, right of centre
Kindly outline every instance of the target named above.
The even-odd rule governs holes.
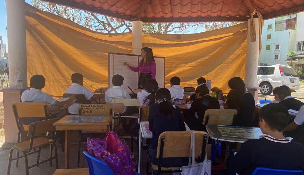
[[[207,132],[214,140],[244,143],[249,139],[258,139],[263,134],[258,127],[237,127],[223,125],[207,125]]]

